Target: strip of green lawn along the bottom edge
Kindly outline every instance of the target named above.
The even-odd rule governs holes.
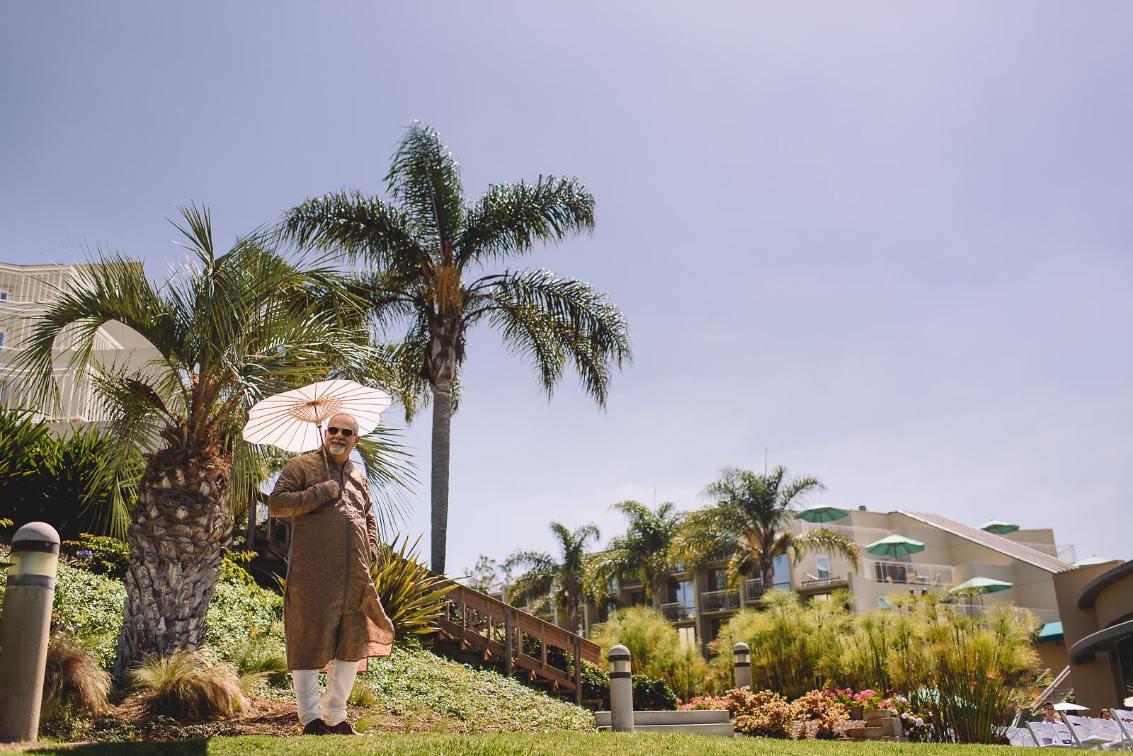
[[[719,738],[693,734],[634,736],[599,732],[544,734],[381,734],[374,737],[305,738],[211,738],[178,742],[104,742],[86,746],[43,747],[33,754],[82,754],[83,756],[323,756],[324,754],[374,754],[381,756],[976,756],[1005,754],[1005,746],[939,746],[816,740],[770,740],[766,738]]]

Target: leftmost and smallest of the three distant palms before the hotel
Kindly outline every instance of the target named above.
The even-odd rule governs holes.
[[[562,557],[555,559],[545,551],[516,551],[503,562],[505,570],[526,568],[511,585],[510,594],[527,599],[538,605],[546,605],[547,598],[554,596],[556,605],[566,617],[566,629],[578,633],[578,608],[583,601],[583,570],[586,548],[598,540],[598,526],[590,523],[573,533],[561,523],[551,523],[551,532],[559,541]]]

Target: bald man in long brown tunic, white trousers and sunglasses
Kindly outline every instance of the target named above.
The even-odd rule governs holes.
[[[357,444],[358,421],[334,415],[322,449],[288,462],[267,498],[272,517],[293,518],[283,633],[304,734],[358,734],[347,721],[358,662],[389,656],[393,644],[369,577],[377,526],[366,474],[350,461]]]

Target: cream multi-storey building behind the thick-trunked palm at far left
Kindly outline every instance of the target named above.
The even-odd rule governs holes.
[[[57,406],[31,406],[14,367],[27,345],[34,319],[59,298],[79,270],[75,265],[11,265],[0,263],[0,407],[31,410],[62,428],[100,422],[105,411],[94,395],[90,371],[69,367],[76,329],[63,330],[52,352],[52,372],[59,388]],[[94,359],[107,368],[144,369],[157,351],[134,330],[117,323],[99,328]]]

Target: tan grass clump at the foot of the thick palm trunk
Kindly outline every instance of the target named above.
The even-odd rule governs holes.
[[[206,651],[177,651],[151,658],[129,672],[142,704],[154,714],[177,719],[223,719],[247,704],[240,676]]]

